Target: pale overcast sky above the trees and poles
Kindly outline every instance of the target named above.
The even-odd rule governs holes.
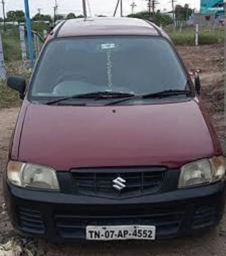
[[[41,9],[42,14],[51,14],[53,16],[53,6],[55,6],[56,0],[28,0],[30,4],[31,16],[35,15]],[[114,13],[116,2],[118,0],[87,0],[90,3],[91,14],[95,15],[107,15],[111,16]],[[134,12],[147,10],[147,1],[145,0],[123,0],[123,15],[131,13],[131,4],[135,2],[136,7]],[[158,0],[160,4],[157,5],[157,9],[171,10],[170,0]],[[177,0],[175,4],[189,6],[194,9],[199,9],[200,0]],[[82,0],[57,0],[58,14],[82,14]],[[5,0],[6,13],[10,10],[24,10],[24,0]],[[119,15],[119,11],[118,11]],[[2,15],[2,8],[0,5],[0,16]]]

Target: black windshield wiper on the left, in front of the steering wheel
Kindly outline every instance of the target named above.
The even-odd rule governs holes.
[[[132,93],[123,93],[123,92],[91,92],[91,93],[83,93],[83,94],[73,94],[72,96],[58,98],[57,100],[45,102],[47,105],[52,105],[61,101],[71,100],[73,98],[94,98],[96,100],[102,98],[124,98],[124,97],[134,97],[135,95]]]

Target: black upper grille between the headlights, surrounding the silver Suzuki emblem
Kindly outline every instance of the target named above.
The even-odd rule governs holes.
[[[153,168],[152,168],[153,169]],[[162,187],[165,170],[140,168],[139,171],[128,169],[103,171],[73,171],[73,189],[76,193],[101,197],[132,197],[156,193]],[[121,177],[125,187],[118,191],[113,187],[114,180]]]

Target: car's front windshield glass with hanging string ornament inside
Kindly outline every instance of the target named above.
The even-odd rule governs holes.
[[[47,100],[92,92],[139,95],[186,89],[186,74],[167,40],[96,36],[49,42],[30,96]]]

